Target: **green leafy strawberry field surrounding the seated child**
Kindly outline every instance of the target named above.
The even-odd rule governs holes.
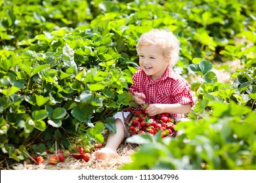
[[[251,0],[0,1],[0,169],[75,157],[89,167],[116,133],[112,116],[135,106],[135,46],[152,28],[181,41],[173,69],[196,105],[177,137],[127,139],[140,145],[118,169],[256,169]]]

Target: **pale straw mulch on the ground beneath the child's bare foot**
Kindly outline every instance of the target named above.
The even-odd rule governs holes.
[[[14,165],[11,169],[19,170],[116,170],[131,162],[131,154],[133,154],[138,147],[138,144],[129,144],[123,142],[120,144],[117,152],[119,158],[112,158],[106,160],[96,160],[92,154],[92,158],[85,162],[81,159],[75,159],[73,156],[66,158],[56,165],[51,165],[47,158],[41,165],[27,164],[25,161],[23,164]]]

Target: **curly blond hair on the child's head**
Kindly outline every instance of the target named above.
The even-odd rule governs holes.
[[[163,56],[173,67],[179,61],[180,41],[171,31],[166,29],[152,29],[143,33],[137,42],[136,50],[139,54],[142,45],[156,45],[163,49]]]

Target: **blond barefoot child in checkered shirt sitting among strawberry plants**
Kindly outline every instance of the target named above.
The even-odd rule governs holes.
[[[177,37],[164,29],[142,34],[137,43],[140,67],[133,75],[129,92],[138,105],[148,104],[146,113],[149,116],[167,112],[182,120],[184,113],[190,112],[194,105],[190,86],[172,69],[179,60],[179,44]],[[125,117],[128,114],[125,112]],[[96,159],[117,158],[119,144],[130,136],[122,113],[117,112],[114,118],[117,131],[110,133],[106,146],[95,152]]]

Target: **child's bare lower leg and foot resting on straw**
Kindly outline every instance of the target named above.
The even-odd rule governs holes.
[[[95,152],[96,159],[116,158],[119,156],[116,150],[123,139],[125,139],[125,127],[119,118],[115,120],[115,124],[116,133],[110,133],[106,142],[106,146]]]

